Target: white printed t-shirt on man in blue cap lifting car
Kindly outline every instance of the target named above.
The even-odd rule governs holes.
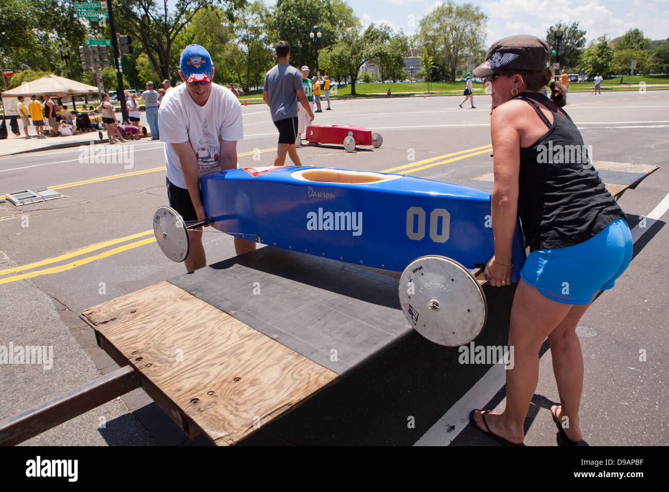
[[[198,106],[180,84],[165,94],[158,110],[158,126],[165,145],[167,178],[187,189],[179,156],[170,143],[189,141],[197,157],[200,176],[221,170],[221,140],[244,139],[242,105],[229,89],[211,84],[207,104]]]

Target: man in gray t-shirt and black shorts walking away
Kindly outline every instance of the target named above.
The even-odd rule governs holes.
[[[295,140],[297,138],[297,99],[309,114],[309,120],[314,119],[304,87],[302,86],[302,74],[297,68],[288,64],[290,58],[290,45],[280,41],[274,47],[278,58],[278,64],[270,68],[265,76],[265,84],[262,88],[262,98],[272,114],[272,121],[279,131],[279,143],[276,148],[274,165],[282,166],[286,163],[286,153],[294,165],[301,166],[300,157],[297,155]]]

